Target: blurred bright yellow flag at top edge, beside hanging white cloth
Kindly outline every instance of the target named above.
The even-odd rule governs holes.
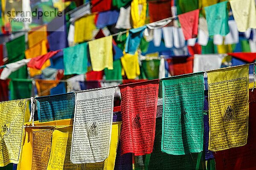
[[[131,20],[132,20],[133,28],[138,28],[145,25],[146,11],[147,11],[147,0],[132,0]]]

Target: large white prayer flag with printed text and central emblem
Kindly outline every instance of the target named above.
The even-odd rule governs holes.
[[[76,93],[70,159],[95,163],[109,156],[113,122],[114,87]]]

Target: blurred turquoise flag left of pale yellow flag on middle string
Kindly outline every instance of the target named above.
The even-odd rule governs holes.
[[[87,72],[87,42],[63,49],[64,75]]]

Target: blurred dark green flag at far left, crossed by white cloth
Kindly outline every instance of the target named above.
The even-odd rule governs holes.
[[[8,54],[8,64],[12,62],[20,61],[25,58],[25,36],[15,38],[12,41],[6,43],[6,50]],[[13,72],[9,78],[11,79],[26,79],[28,71],[26,65],[19,70]]]

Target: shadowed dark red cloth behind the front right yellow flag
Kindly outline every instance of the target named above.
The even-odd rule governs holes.
[[[214,153],[217,170],[256,170],[256,91],[249,90],[247,144]]]

